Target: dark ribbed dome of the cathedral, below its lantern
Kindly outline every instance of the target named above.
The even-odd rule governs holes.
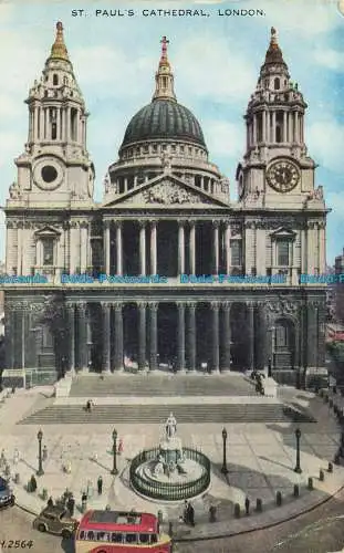
[[[183,140],[206,148],[197,118],[174,98],[156,98],[134,115],[129,122],[122,148],[140,140]]]

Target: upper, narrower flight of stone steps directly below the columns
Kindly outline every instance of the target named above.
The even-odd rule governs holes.
[[[103,396],[250,396],[254,387],[242,375],[79,375],[71,397]]]

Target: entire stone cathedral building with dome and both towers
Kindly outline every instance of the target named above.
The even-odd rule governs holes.
[[[7,367],[53,376],[271,363],[280,382],[325,375],[325,288],[300,274],[325,272],[327,209],[277,33],[246,113],[237,202],[177,103],[161,42],[152,104],[129,123],[96,204],[88,114],[58,23],[6,206],[7,273],[46,282],[6,285]],[[241,274],[251,282],[228,279]]]

